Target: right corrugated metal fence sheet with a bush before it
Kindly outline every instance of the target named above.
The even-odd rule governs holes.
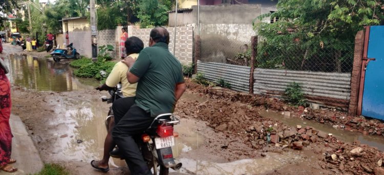
[[[289,83],[297,82],[309,102],[342,108],[349,105],[350,73],[255,69],[253,77],[254,94],[280,97]]]

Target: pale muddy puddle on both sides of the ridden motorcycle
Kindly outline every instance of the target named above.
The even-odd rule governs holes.
[[[52,137],[57,138],[52,152],[54,160],[78,160],[90,162],[93,159],[102,158],[106,129],[104,120],[107,110],[100,107],[100,102],[93,104],[80,104],[76,109],[62,107],[65,114],[50,124],[58,129],[52,130]],[[193,131],[193,125],[181,122],[175,126],[179,137],[175,139],[173,147],[174,157],[178,158],[182,152],[188,152],[199,148],[204,143],[204,137]],[[81,140],[81,143],[77,143]],[[114,167],[126,166],[120,159],[110,159],[110,165]]]

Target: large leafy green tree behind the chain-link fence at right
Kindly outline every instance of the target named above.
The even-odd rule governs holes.
[[[261,15],[255,21],[279,18],[273,24],[254,23],[264,42],[259,44],[258,59],[268,55],[268,49],[297,50],[303,63],[319,49],[336,50],[335,62],[350,48],[357,31],[378,25],[384,19],[384,4],[375,0],[279,0],[278,11]],[[255,22],[254,21],[254,22]],[[267,60],[262,67],[273,67],[281,59]],[[302,63],[302,67],[303,67]],[[336,68],[340,72],[338,65]]]

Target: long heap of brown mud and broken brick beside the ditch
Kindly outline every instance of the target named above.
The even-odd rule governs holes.
[[[191,89],[192,88],[192,89]],[[196,89],[195,89],[196,88]],[[291,149],[307,149],[316,146],[325,147],[326,151],[317,150],[323,154],[319,162],[322,168],[334,173],[343,174],[384,174],[381,169],[383,152],[377,148],[360,145],[358,142],[343,143],[333,137],[309,126],[297,125],[291,127],[280,121],[263,118],[259,110],[269,108],[275,111],[290,111],[291,115],[305,117],[338,128],[367,129],[367,127],[382,128],[378,121],[360,117],[346,117],[342,112],[331,109],[311,110],[304,107],[291,107],[279,99],[254,96],[233,92],[226,89],[210,89],[188,82],[188,92],[205,96],[205,102],[180,100],[176,112],[180,117],[193,117],[207,122],[216,132],[224,133],[227,138],[236,137],[254,150],[288,151]],[[314,116],[314,117],[310,117]],[[363,124],[361,126],[361,124]],[[366,125],[364,125],[366,124]],[[373,129],[374,132],[380,132]],[[374,133],[368,130],[368,134]],[[357,153],[351,150],[361,147]],[[224,147],[225,148],[225,145]]]

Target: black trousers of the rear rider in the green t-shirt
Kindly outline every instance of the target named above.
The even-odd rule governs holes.
[[[152,174],[148,170],[133,136],[142,134],[153,120],[150,113],[134,104],[112,131],[112,137],[132,174]]]

